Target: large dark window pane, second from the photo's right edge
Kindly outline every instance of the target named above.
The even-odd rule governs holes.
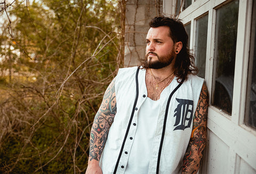
[[[238,0],[216,12],[215,91],[213,104],[231,115],[236,56]]]

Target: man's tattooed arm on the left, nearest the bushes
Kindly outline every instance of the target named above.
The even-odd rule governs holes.
[[[115,79],[109,84],[101,106],[94,117],[91,136],[90,152],[86,174],[102,173],[99,160],[105,146],[108,131],[116,115]]]

